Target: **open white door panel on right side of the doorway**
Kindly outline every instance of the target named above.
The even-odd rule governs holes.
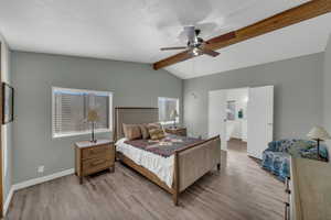
[[[249,88],[247,103],[247,154],[261,158],[273,141],[274,86]]]

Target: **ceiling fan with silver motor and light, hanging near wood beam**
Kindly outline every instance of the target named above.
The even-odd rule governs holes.
[[[205,47],[207,42],[199,37],[201,30],[195,26],[184,26],[184,33],[188,37],[186,46],[162,47],[161,51],[186,50],[188,58],[206,54],[209,56],[218,56],[220,53]]]

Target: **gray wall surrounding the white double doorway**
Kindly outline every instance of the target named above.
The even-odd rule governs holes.
[[[319,53],[184,80],[184,123],[206,136],[209,90],[274,85],[275,139],[306,138],[322,118],[322,69]]]

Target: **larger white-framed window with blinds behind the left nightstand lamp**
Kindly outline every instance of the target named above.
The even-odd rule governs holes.
[[[96,110],[99,121],[95,132],[109,132],[111,129],[113,92],[82,89],[52,89],[52,130],[53,138],[87,134],[90,123],[87,122],[89,110]]]

